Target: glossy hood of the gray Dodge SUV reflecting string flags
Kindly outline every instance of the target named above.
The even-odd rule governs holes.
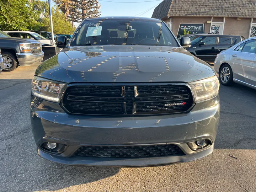
[[[69,47],[43,62],[36,74],[62,82],[191,82],[212,68],[180,47]]]

